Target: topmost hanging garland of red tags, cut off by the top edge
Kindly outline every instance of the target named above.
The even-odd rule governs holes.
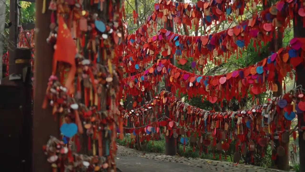
[[[213,22],[221,22],[228,20],[233,21],[230,18],[230,14],[235,13],[236,17],[243,15],[245,8],[251,8],[256,10],[256,4],[261,0],[212,0],[212,1],[198,1],[196,3],[188,2],[174,2],[171,0],[159,0],[154,5],[154,11],[146,19],[136,31],[136,35],[145,35],[145,33],[151,33],[153,29],[156,31],[156,24],[159,20],[162,23],[166,23],[167,20],[174,18],[174,22],[178,25],[186,24],[192,28],[192,25],[199,27],[199,21],[203,21],[201,26],[205,24],[210,26]],[[249,4],[247,4],[250,2]],[[203,19],[203,20],[202,20]],[[127,25],[126,25],[127,26]]]

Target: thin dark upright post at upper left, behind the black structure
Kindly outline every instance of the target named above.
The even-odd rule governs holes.
[[[9,1],[9,20],[12,22],[12,26],[9,28],[9,75],[15,73],[15,58],[16,48],[18,43],[18,25],[19,25],[19,0]]]

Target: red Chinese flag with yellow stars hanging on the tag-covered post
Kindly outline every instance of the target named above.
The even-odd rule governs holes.
[[[53,71],[52,75],[56,73],[57,62],[66,62],[71,65],[69,70],[65,87],[68,89],[68,93],[72,94],[74,92],[73,80],[76,72],[75,66],[75,55],[76,55],[76,45],[71,36],[71,31],[68,29],[63,17],[58,15],[58,32],[56,49],[53,56]]]

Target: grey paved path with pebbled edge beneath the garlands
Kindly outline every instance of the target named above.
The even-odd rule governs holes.
[[[136,151],[123,146],[118,146],[116,163],[122,172],[282,172],[258,166],[236,165],[225,161],[166,156],[160,153]]]

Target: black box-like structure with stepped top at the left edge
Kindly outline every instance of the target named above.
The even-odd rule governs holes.
[[[0,131],[5,159],[3,171],[31,171],[32,163],[32,84],[30,49],[16,49],[16,74],[5,77],[0,85]]]

